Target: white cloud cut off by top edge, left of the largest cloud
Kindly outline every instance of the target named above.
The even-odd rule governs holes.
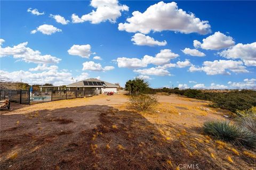
[[[96,8],[96,11],[92,10],[89,14],[82,15],[81,18],[76,14],[72,14],[72,22],[90,21],[93,24],[97,24],[108,20],[114,23],[122,15],[121,11],[129,11],[128,6],[120,5],[117,0],[92,0],[90,5]]]

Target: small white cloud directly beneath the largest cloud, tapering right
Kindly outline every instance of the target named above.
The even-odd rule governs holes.
[[[138,46],[165,46],[167,44],[165,40],[162,42],[157,41],[152,37],[143,35],[142,33],[135,33],[131,40],[134,42],[133,44]]]

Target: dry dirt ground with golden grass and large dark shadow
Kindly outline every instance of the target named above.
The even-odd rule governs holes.
[[[158,95],[151,112],[128,101],[119,93],[11,104],[0,115],[1,169],[256,169],[255,151],[202,131],[229,112],[175,95]]]

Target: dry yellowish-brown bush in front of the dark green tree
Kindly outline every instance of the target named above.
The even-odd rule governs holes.
[[[130,106],[137,111],[148,111],[157,105],[155,95],[132,95],[130,97]]]

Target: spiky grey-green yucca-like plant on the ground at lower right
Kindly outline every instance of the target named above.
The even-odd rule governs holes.
[[[231,124],[227,121],[210,121],[204,123],[204,132],[213,137],[235,145],[242,145],[249,148],[256,147],[256,135],[247,128]]]

